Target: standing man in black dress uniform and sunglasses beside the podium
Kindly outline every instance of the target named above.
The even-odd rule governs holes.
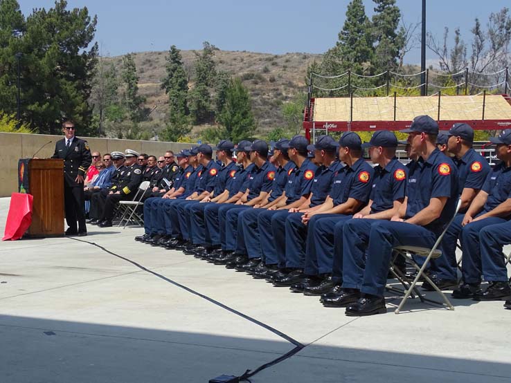
[[[69,226],[66,235],[86,236],[83,181],[91,165],[91,151],[87,141],[75,137],[73,122],[65,121],[62,124],[62,132],[65,138],[57,141],[55,153],[51,158],[64,160],[64,207]]]

